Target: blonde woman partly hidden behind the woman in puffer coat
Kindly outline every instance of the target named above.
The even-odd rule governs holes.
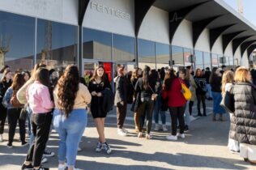
[[[224,96],[226,91],[231,91],[233,87],[233,79],[234,74],[233,71],[227,70],[224,72],[222,76],[222,85],[221,85],[221,94]],[[236,122],[233,117],[233,113],[229,113],[230,115],[230,126],[236,125]],[[233,130],[230,128],[229,136],[233,133]],[[230,151],[238,152],[239,151],[239,143],[233,138],[228,138],[228,149]]]

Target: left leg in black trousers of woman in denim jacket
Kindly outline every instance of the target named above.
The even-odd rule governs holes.
[[[15,130],[19,115],[16,114],[15,108],[10,108],[7,110],[8,114],[8,125],[9,125],[9,140],[8,145],[12,145],[13,138],[15,136]]]

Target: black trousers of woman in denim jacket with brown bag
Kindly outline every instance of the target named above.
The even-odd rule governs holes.
[[[15,130],[17,126],[17,121],[19,121],[19,135],[21,142],[25,142],[25,120],[19,119],[21,108],[8,108],[8,125],[9,125],[9,144],[12,144],[13,138],[15,136]]]

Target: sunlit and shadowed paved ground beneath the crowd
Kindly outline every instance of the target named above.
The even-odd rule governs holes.
[[[207,113],[211,113],[211,104],[207,104]],[[195,110],[194,110],[195,111]],[[170,120],[169,114],[167,119]],[[83,134],[80,146],[83,151],[77,157],[77,168],[86,170],[165,170],[165,169],[256,169],[245,163],[239,155],[228,151],[228,121],[211,121],[211,115],[200,117],[192,122],[185,139],[170,142],[165,139],[169,133],[153,132],[154,138],[137,138],[134,133],[132,113],[128,113],[126,129],[128,137],[117,136],[114,112],[106,120],[106,138],[113,148],[111,155],[96,153],[97,132],[92,117]],[[226,117],[228,120],[228,117]],[[170,127],[169,127],[170,129]],[[5,138],[7,135],[5,133]],[[0,169],[20,169],[28,147],[19,147],[18,133],[15,135],[12,149],[6,147],[6,141],[0,143]],[[48,144],[49,150],[58,153],[58,134],[53,131]],[[57,169],[58,157],[49,158],[45,164]]]

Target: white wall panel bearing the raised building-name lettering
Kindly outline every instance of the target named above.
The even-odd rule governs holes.
[[[102,6],[105,6],[103,11]],[[130,19],[118,17],[114,11],[111,13],[111,8],[130,15]],[[134,36],[134,1],[91,0],[84,15],[83,27]]]

